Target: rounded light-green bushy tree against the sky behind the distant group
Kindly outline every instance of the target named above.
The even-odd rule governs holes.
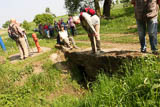
[[[33,20],[37,25],[53,24],[53,16],[51,14],[38,14]]]

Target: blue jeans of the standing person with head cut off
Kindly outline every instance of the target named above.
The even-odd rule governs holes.
[[[149,34],[149,41],[151,45],[151,50],[156,51],[157,50],[157,27],[158,22],[157,18],[147,21],[137,21],[138,26],[138,35],[139,40],[141,44],[141,51],[146,49],[146,28],[148,28],[148,34]]]

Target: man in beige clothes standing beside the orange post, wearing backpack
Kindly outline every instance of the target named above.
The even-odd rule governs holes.
[[[10,20],[8,27],[9,36],[16,41],[16,44],[20,51],[20,59],[26,59],[29,55],[27,44],[24,38],[22,28],[17,24],[15,19]]]

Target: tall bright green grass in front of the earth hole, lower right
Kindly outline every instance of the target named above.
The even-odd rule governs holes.
[[[153,61],[156,60],[156,61]],[[100,74],[81,107],[160,106],[160,70],[155,58],[139,59],[125,66],[124,77]]]

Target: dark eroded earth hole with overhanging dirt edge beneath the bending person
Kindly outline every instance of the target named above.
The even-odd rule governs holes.
[[[155,58],[148,53],[118,49],[105,50],[102,54],[91,54],[90,51],[82,50],[62,50],[61,52],[67,60],[72,79],[85,88],[89,82],[96,79],[99,73],[105,73],[110,77],[132,75],[135,66],[143,68],[143,65]]]

